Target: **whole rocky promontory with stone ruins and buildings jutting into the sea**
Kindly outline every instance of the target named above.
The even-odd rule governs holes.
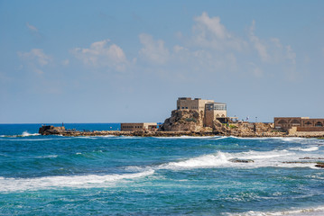
[[[121,123],[121,131],[65,130],[64,126],[43,125],[42,135],[63,136],[238,136],[238,137],[320,137],[324,138],[324,119],[275,117],[274,123],[237,121],[227,116],[227,104],[200,98],[179,97],[176,110],[161,125]]]

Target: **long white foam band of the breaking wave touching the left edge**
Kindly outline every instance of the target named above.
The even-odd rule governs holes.
[[[123,180],[132,180],[147,175],[153,175],[154,170],[123,175],[72,175],[46,176],[39,178],[5,178],[0,177],[0,192],[51,189],[58,187],[106,187]]]

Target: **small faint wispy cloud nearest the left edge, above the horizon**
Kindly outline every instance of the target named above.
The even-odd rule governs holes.
[[[42,49],[32,49],[29,52],[18,52],[18,56],[22,58],[28,67],[31,67],[37,74],[42,74],[41,67],[44,67],[51,63],[52,58],[46,55]]]

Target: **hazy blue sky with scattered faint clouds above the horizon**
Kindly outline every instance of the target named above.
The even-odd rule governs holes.
[[[324,1],[0,0],[0,123],[324,118]]]

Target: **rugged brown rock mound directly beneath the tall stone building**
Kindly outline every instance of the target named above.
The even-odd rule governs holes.
[[[203,112],[193,110],[174,110],[166,119],[160,131],[201,131],[204,130]]]

